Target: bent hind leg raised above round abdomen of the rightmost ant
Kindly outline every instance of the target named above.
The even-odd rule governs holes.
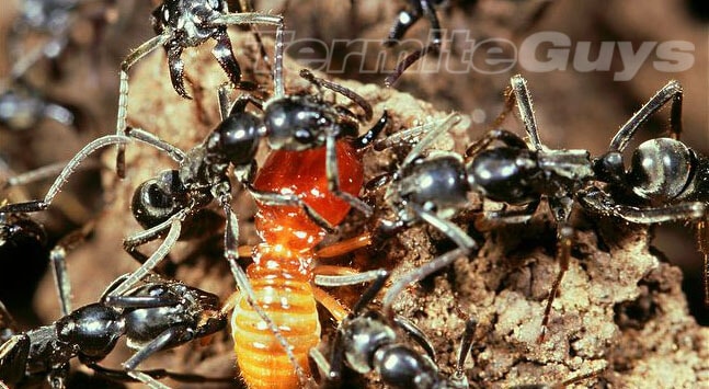
[[[670,100],[672,100],[672,107],[670,112],[670,129],[675,139],[679,139],[682,134],[682,99],[684,92],[679,81],[672,80],[666,85],[662,87],[642,107],[636,112],[626,124],[618,129],[616,136],[610,140],[608,151],[622,152],[630,139],[634,136],[636,131],[642,124],[644,124],[650,115],[660,111]]]

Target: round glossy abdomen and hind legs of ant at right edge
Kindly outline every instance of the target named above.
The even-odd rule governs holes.
[[[607,183],[579,195],[590,211],[633,224],[691,220],[704,254],[705,304],[709,306],[709,157],[679,141],[683,90],[672,80],[655,93],[614,136],[608,151],[594,159],[596,180]],[[648,118],[667,102],[670,138],[653,138],[633,151],[626,170],[622,152]]]

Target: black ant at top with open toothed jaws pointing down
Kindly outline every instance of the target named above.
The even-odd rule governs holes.
[[[184,89],[184,64],[180,58],[183,49],[199,46],[209,38],[215,39],[217,44],[211,50],[213,55],[233,85],[240,87],[241,68],[233,55],[227,27],[242,24],[275,25],[277,37],[283,35],[284,28],[283,16],[256,12],[230,13],[226,0],[164,0],[152,12],[152,24],[157,35],[134,49],[121,62],[116,135],[125,135],[128,70],[159,46],[163,46],[168,53],[172,87],[181,96],[190,99]],[[262,55],[264,53],[262,48]],[[117,173],[121,178],[125,176],[124,147],[118,147],[116,158]]]

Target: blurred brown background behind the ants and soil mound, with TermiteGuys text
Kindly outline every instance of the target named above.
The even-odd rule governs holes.
[[[38,4],[54,12],[42,18]],[[3,2],[0,181],[66,161],[89,140],[113,131],[118,65],[130,48],[153,35],[150,12],[156,5],[156,1],[136,0]],[[259,11],[284,13],[291,32],[287,53],[302,66],[380,85],[398,59],[428,42],[431,26],[421,20],[401,44],[381,45],[405,7],[407,1],[376,0],[253,4]],[[709,153],[706,1],[450,0],[438,7],[438,16],[444,33],[441,54],[426,56],[393,88],[436,108],[471,115],[473,138],[490,129],[503,110],[510,77],[522,73],[529,81],[542,142],[598,155],[642,103],[676,79],[685,91],[682,139]],[[562,41],[533,45],[540,36]],[[529,52],[529,47],[536,49]],[[628,57],[628,49],[634,58]],[[37,50],[42,55],[34,58]],[[160,49],[155,55],[164,53]],[[539,64],[553,66],[539,71]],[[11,98],[34,105],[26,103],[32,110],[20,110]],[[668,110],[653,116],[632,145],[665,134]],[[512,117],[504,126],[523,130]],[[44,184],[28,185],[3,193],[0,201],[39,198],[45,192]],[[47,229],[45,247],[30,241],[0,248],[0,300],[23,325],[45,322],[32,300],[45,273],[46,248],[104,206],[95,167],[72,179],[66,192],[72,195],[59,196],[49,211],[38,215]],[[693,314],[709,325],[709,312],[701,305],[702,259],[693,226],[661,226],[654,244],[682,266]]]

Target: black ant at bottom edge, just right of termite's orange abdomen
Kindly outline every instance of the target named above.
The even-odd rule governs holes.
[[[469,320],[466,324],[455,373],[450,377],[443,375],[433,362],[433,346],[413,323],[403,318],[389,319],[367,309],[388,277],[389,274],[386,271],[380,271],[377,279],[357,301],[352,313],[342,320],[335,334],[329,364],[323,361],[319,352],[311,352],[313,361],[323,370],[325,380],[330,384],[338,382],[341,379],[343,364],[346,364],[359,374],[376,371],[381,382],[390,388],[468,388],[468,379],[462,366],[470,352],[477,322]],[[400,289],[397,288],[397,290]],[[387,294],[389,295],[389,291]],[[414,337],[428,355],[422,355],[412,346],[401,342],[394,323]]]

